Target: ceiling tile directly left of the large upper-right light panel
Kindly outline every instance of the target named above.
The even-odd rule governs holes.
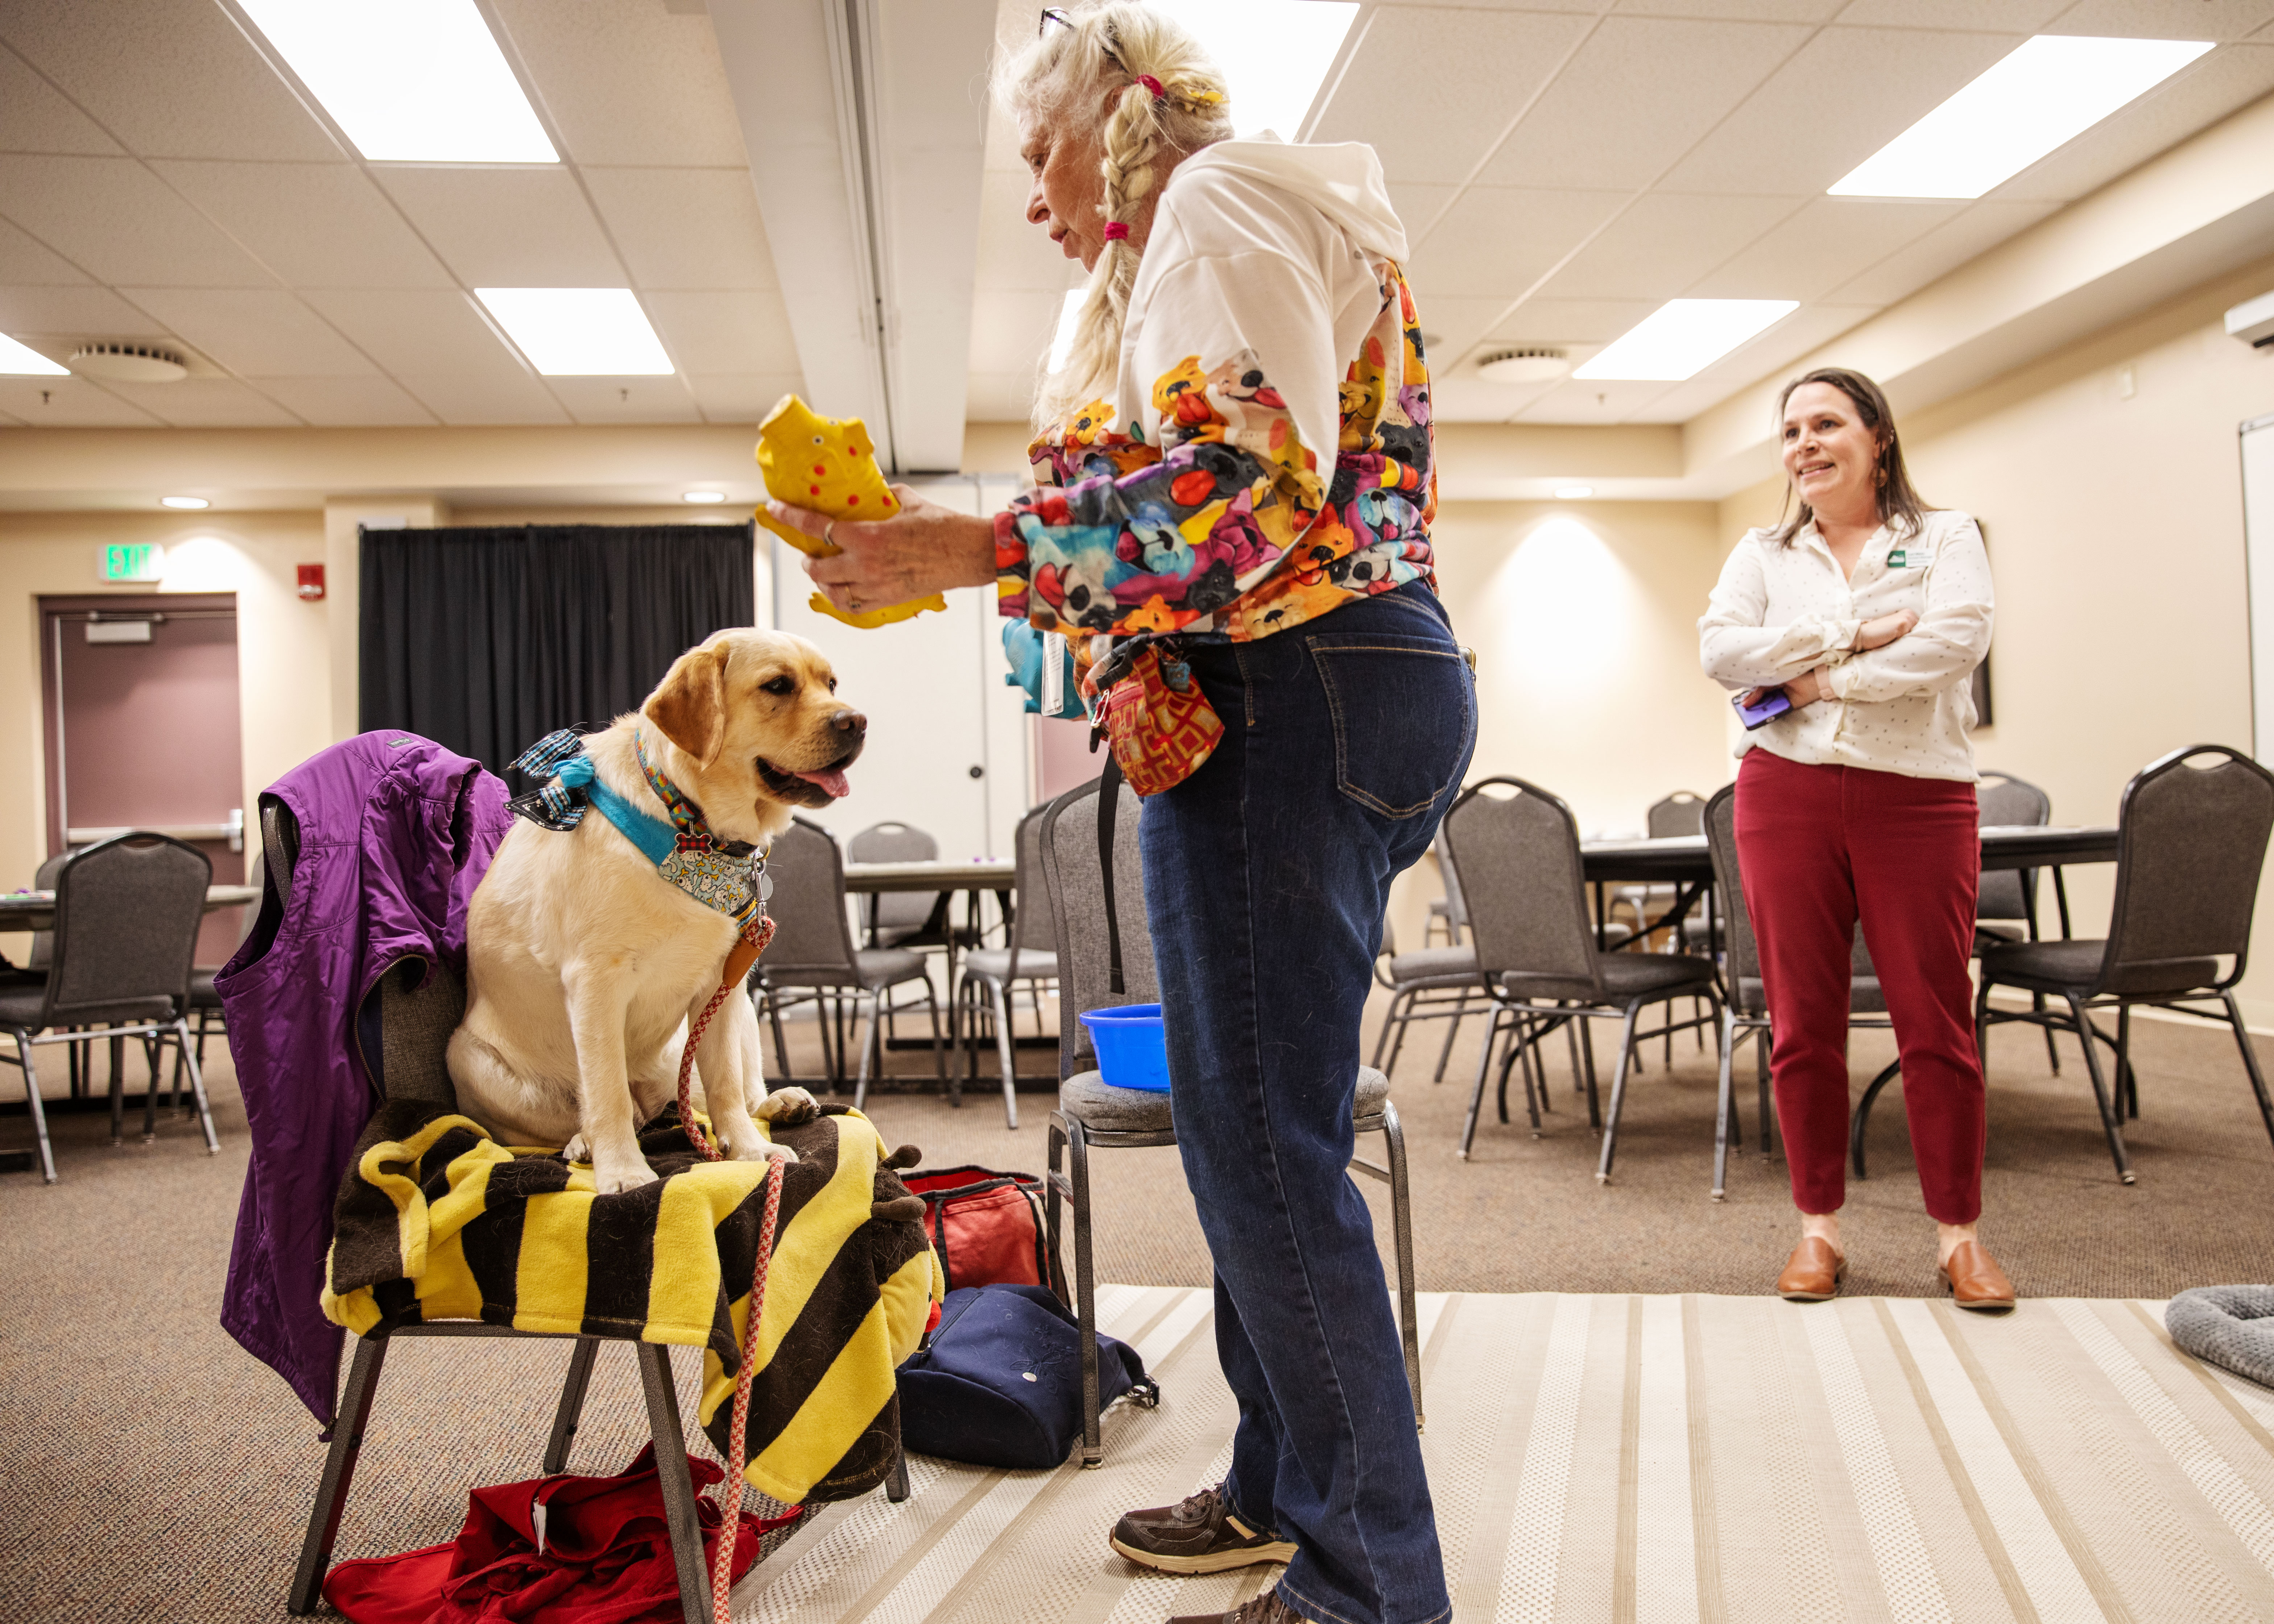
[[[1699,141],[1665,184],[1812,198],[2017,43],[2017,34],[1828,27]]]

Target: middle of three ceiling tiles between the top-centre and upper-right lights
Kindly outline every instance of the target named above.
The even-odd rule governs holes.
[[[1649,187],[1806,39],[1796,25],[1605,18],[1478,180]]]

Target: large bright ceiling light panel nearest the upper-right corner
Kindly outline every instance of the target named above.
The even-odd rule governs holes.
[[[2210,50],[2038,34],[1858,164],[1835,198],[1978,198]]]

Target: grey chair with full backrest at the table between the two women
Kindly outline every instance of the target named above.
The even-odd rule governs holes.
[[[1476,1067],[1476,1094],[1460,1130],[1460,1155],[1467,1160],[1476,1140],[1476,1117],[1485,1103],[1485,1080],[1492,1071],[1494,1037],[1505,1033],[1501,1060],[1501,1110],[1505,1119],[1508,1069],[1524,1060],[1524,1103],[1539,1133],[1539,1105],[1546,1094],[1546,1069],[1533,1087],[1537,1042],[1555,1026],[1580,1026],[1590,1019],[1617,1019],[1619,1062],[1610,1074],[1610,1119],[1603,1121],[1594,1069],[1587,1071],[1587,1121],[1603,1133],[1596,1183],[1610,1183],[1610,1162],[1619,1144],[1619,1108],[1626,1103],[1626,1074],[1635,1044],[1660,1037],[1660,1030],[1637,1033],[1635,1021],[1651,1003],[1703,996],[1719,1019],[1721,999],[1715,992],[1712,964],[1690,953],[1605,953],[1594,944],[1594,921],[1587,917],[1587,878],[1578,851],[1578,821],[1560,798],[1521,778],[1485,778],[1471,785],[1444,817],[1444,832],[1460,864],[1462,896],[1469,903],[1469,939],[1476,944],[1478,983],[1492,999],[1492,1026]],[[1667,1030],[1674,1012],[1667,1010]],[[1578,1060],[1574,1058],[1574,1067]]]

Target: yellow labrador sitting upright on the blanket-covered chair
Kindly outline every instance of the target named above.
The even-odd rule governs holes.
[[[607,787],[669,828],[639,751],[714,835],[764,848],[794,807],[846,794],[866,719],[803,637],[714,632],[630,716],[584,739]],[[598,796],[596,796],[598,801]],[[516,821],[466,917],[466,1019],[450,1037],[459,1105],[512,1144],[566,1144],[603,1192],[655,1180],[637,1128],[678,1094],[687,1026],[719,989],[735,919],[669,880],[600,805],[571,830]],[[737,1160],[791,1158],[750,1117],[812,1108],[764,1094],[757,1014],[728,999],[696,1049],[703,1105]]]

